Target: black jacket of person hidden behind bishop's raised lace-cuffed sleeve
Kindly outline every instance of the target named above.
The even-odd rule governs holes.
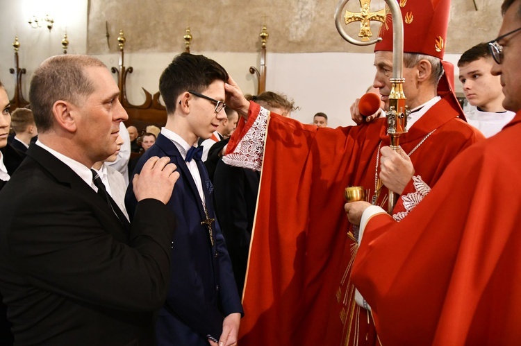
[[[261,173],[219,159],[213,176],[215,212],[226,240],[233,275],[242,296]]]

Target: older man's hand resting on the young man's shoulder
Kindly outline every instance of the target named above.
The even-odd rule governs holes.
[[[179,172],[175,172],[176,165],[169,162],[169,157],[150,157],[140,174],[134,175],[132,184],[135,199],[138,202],[154,198],[167,204],[172,196],[174,184],[179,178]]]

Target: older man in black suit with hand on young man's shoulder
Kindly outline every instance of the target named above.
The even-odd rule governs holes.
[[[16,344],[154,342],[175,222],[165,203],[179,173],[151,158],[134,179],[134,222],[117,216],[90,168],[116,150],[128,118],[118,95],[87,55],[49,58],[33,75],[40,138],[0,191],[0,290]]]

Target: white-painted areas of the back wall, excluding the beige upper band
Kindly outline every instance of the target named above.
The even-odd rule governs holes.
[[[36,67],[45,58],[62,53],[61,38],[67,28],[69,53],[85,53],[87,42],[88,1],[52,0],[43,4],[39,0],[1,0],[0,21],[0,78],[10,97],[15,80],[9,73],[14,67],[13,46],[15,35],[20,41],[19,62],[26,68],[23,78],[24,96],[28,98],[28,85]],[[66,10],[65,10],[66,9]],[[49,12],[55,19],[52,31],[31,28],[27,23],[31,13],[40,17]],[[131,44],[131,42],[127,42]],[[347,43],[346,43],[347,44]],[[131,103],[144,101],[141,87],[151,94],[158,92],[160,73],[179,52],[126,53],[124,64],[133,67],[127,79],[127,93]],[[250,66],[258,67],[258,53],[197,52],[220,62],[245,93],[256,92],[256,77],[249,73]],[[119,55],[94,55],[110,67],[118,67]],[[446,60],[457,62],[458,54],[446,55]],[[349,105],[360,97],[374,78],[372,53],[267,53],[266,89],[281,92],[295,100],[300,110],[292,117],[311,123],[316,112],[329,116],[329,126],[352,124]],[[456,69],[457,72],[457,69]],[[461,91],[456,78],[456,90]]]

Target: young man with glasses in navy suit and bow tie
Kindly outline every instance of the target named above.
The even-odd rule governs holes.
[[[228,73],[203,55],[177,55],[163,71],[159,90],[167,123],[134,173],[154,155],[168,157],[181,178],[168,202],[177,218],[172,239],[172,280],[156,324],[158,345],[235,345],[242,314],[224,237],[215,220],[213,187],[197,139],[209,138],[224,113]],[[132,184],[126,207],[135,216]]]

